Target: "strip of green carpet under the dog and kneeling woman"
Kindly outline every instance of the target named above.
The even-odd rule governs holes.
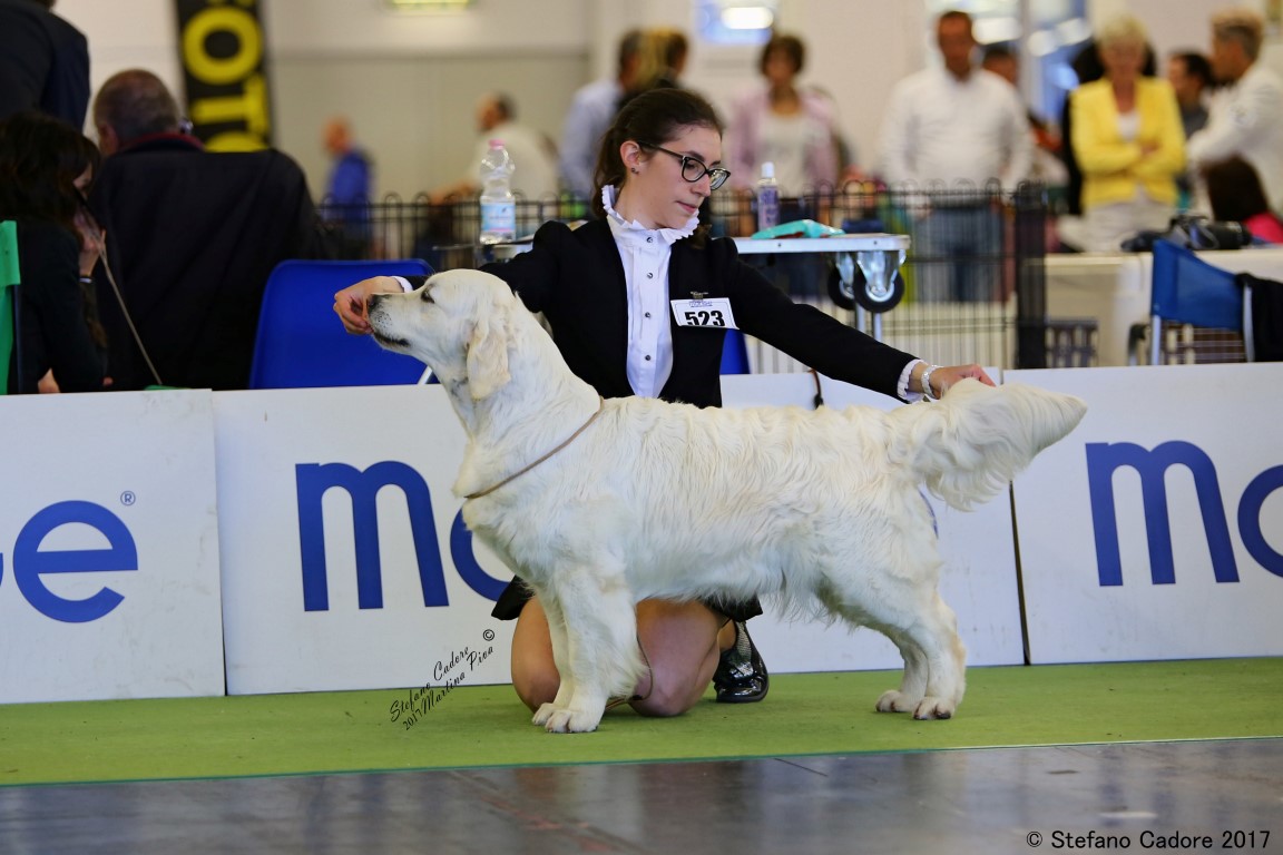
[[[0,784],[1283,736],[1283,659],[973,668],[947,722],[872,711],[898,673],[772,677],[761,704],[586,735],[530,724],[511,686],[459,687],[411,728],[408,691],[0,706]]]

